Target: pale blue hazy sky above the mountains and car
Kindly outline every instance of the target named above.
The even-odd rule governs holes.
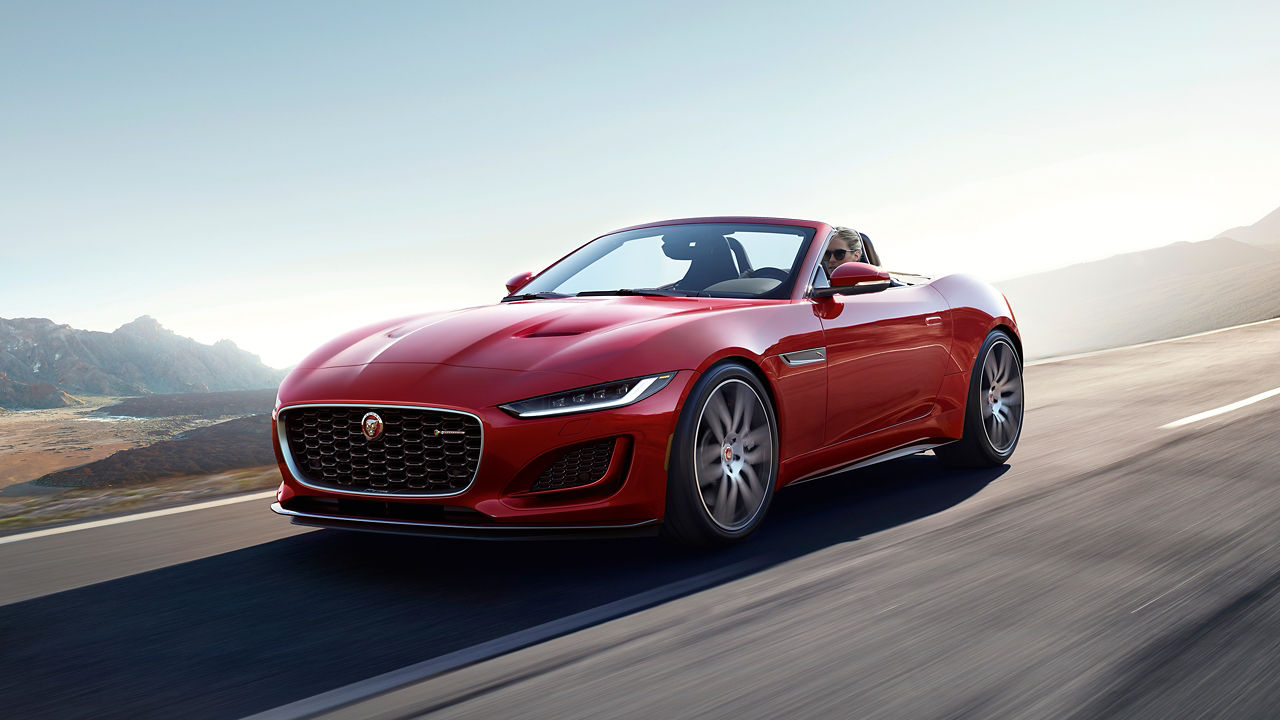
[[[963,5],[963,6],[961,6]],[[611,229],[1016,277],[1280,206],[1280,4],[0,0],[0,316],[273,366]]]

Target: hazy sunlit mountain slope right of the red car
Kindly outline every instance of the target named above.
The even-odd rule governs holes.
[[[1028,359],[1164,340],[1280,316],[1280,209],[1175,242],[1024,275],[1009,297]]]

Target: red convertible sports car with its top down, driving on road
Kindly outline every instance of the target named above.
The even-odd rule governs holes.
[[[1009,302],[964,275],[882,270],[861,238],[865,263],[837,265],[826,223],[636,225],[512,278],[495,305],[338,337],[280,386],[271,509],[717,544],[792,483],[931,448],[1005,462],[1023,421]]]

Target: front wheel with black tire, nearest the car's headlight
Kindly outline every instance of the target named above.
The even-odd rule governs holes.
[[[769,395],[737,363],[712,368],[676,423],[663,537],[698,547],[745,538],[768,512],[777,478],[778,421]]]

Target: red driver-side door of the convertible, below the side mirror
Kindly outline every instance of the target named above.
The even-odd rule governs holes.
[[[895,286],[813,302],[827,345],[827,445],[932,411],[950,366],[951,313],[940,292]]]

